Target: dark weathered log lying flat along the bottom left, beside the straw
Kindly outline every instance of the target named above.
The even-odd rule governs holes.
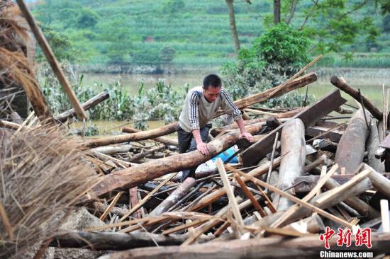
[[[111,232],[85,232],[74,231],[54,236],[50,246],[58,248],[89,248],[94,250],[126,250],[129,248],[156,246],[179,246],[188,234],[161,235],[152,233],[111,233]],[[199,238],[199,243],[204,243],[210,238]]]

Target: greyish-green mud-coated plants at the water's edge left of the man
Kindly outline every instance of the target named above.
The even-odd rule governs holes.
[[[172,86],[165,84],[165,81],[160,80],[155,88],[147,90],[144,90],[141,83],[138,95],[129,96],[118,83],[83,86],[83,75],[78,78],[72,66],[67,64],[63,65],[63,69],[81,102],[96,96],[100,91],[110,94],[110,98],[88,110],[90,120],[128,120],[138,129],[147,129],[148,120],[164,120],[166,123],[176,121],[182,109],[185,98],[183,94],[186,93],[175,91]],[[65,101],[67,96],[48,64],[43,64],[38,69],[37,77],[53,113],[62,113],[72,108],[70,103]],[[188,91],[188,87],[186,90]]]

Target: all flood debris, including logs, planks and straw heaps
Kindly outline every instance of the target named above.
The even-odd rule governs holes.
[[[77,111],[52,116],[23,52],[1,46],[1,54],[7,58],[0,61],[1,91],[9,79],[20,84],[34,112],[0,121],[0,258],[18,258],[37,245],[35,258],[50,248],[96,250],[101,258],[313,258],[324,248],[324,231],[357,235],[367,227],[370,251],[388,253],[389,220],[381,216],[381,200],[390,197],[387,116],[336,76],[332,84],[359,109],[344,108],[339,89],[308,106],[260,107],[310,87],[317,76],[303,69],[235,101],[255,142],[225,125],[211,130],[207,155],[179,154],[170,136],[177,122],[99,138],[67,136],[62,123],[109,96],[82,105],[73,100]],[[21,61],[13,70],[12,58]],[[182,171],[194,166],[196,177],[180,183]],[[350,248],[364,250],[357,238]]]

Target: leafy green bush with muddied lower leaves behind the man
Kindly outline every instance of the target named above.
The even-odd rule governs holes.
[[[234,100],[278,86],[308,61],[308,40],[299,31],[279,23],[240,50],[238,61],[225,64],[221,70],[225,89]],[[301,106],[304,96],[292,92],[267,102],[269,107]],[[313,100],[308,96],[308,102]]]

